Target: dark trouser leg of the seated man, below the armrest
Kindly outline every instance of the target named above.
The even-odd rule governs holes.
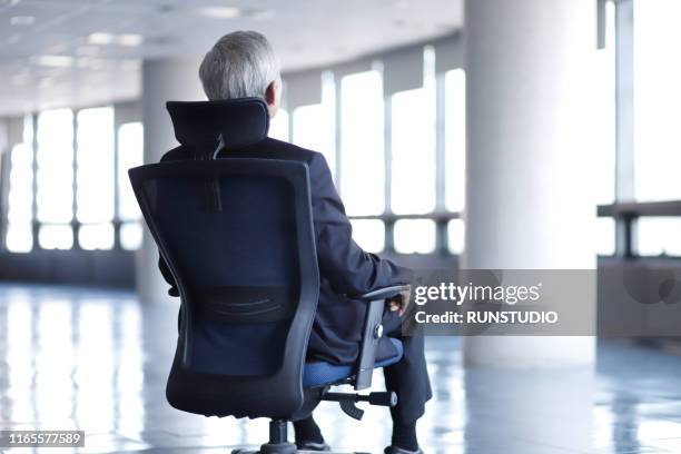
[[[423,416],[425,403],[433,397],[426,368],[423,335],[403,336],[401,318],[395,313],[383,317],[384,333],[402,340],[404,356],[384,368],[385,386],[397,394],[397,405],[391,408],[394,424],[412,424]]]

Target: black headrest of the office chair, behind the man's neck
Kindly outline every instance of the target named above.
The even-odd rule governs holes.
[[[168,101],[175,138],[190,147],[213,147],[223,136],[224,148],[235,149],[267,137],[269,110],[260,98],[219,101]]]

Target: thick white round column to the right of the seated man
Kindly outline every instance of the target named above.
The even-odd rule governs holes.
[[[595,268],[590,194],[593,0],[465,3],[465,268]],[[595,310],[595,302],[580,302]],[[468,337],[468,364],[594,361],[591,337]]]

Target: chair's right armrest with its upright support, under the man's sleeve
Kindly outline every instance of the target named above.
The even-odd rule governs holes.
[[[381,322],[383,319],[385,300],[408,289],[411,289],[408,285],[394,285],[353,297],[354,299],[367,302],[362,345],[359,346],[359,358],[357,359],[357,371],[355,373],[355,389],[366,389],[372,386],[376,347],[383,336],[383,325],[381,325]]]

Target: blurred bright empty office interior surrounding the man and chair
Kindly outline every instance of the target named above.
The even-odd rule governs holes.
[[[681,344],[651,335],[681,319],[621,304],[623,276],[654,293],[681,265],[679,21],[678,0],[0,0],[1,428],[82,427],[87,452],[264,438],[165,403],[178,303],[127,177],[175,146],[165,101],[204,99],[203,55],[255,29],[282,60],[270,136],[325,155],[362,247],[593,268],[585,307],[632,333],[428,338],[425,448],[681,452]],[[322,411],[335,446],[387,444],[383,411]]]

